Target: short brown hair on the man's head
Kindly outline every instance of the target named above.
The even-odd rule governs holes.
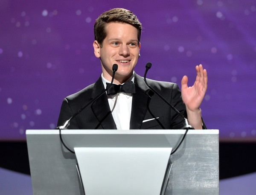
[[[107,37],[105,26],[111,22],[120,22],[133,25],[138,30],[138,41],[142,31],[142,25],[137,16],[131,11],[124,8],[114,8],[101,14],[94,24],[94,40],[102,45],[103,40]]]

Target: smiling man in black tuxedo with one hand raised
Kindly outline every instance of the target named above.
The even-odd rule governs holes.
[[[137,17],[123,8],[106,11],[94,25],[94,54],[100,59],[102,75],[92,85],[63,100],[58,126],[81,107],[99,95],[112,79],[112,66],[118,65],[113,83],[134,83],[135,91],[103,94],[70,121],[69,129],[180,129],[183,118],[145,85],[134,72],[140,57],[142,25]],[[188,78],[177,84],[148,79],[157,90],[184,116],[195,129],[202,129],[200,105],[207,90],[207,71],[196,66],[195,84],[188,87]],[[114,85],[113,84],[113,85]],[[131,84],[132,85],[132,84]],[[119,87],[118,87],[119,88]],[[181,98],[182,97],[182,98]],[[183,103],[184,102],[184,103]]]

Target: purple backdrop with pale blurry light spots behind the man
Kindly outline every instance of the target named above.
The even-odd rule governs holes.
[[[0,139],[25,139],[26,129],[55,128],[64,97],[96,81],[93,24],[110,8],[133,11],[143,24],[135,71],[189,84],[207,68],[202,104],[221,138],[256,138],[255,0],[1,0]]]

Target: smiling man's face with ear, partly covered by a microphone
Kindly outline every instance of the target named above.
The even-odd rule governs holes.
[[[133,73],[140,54],[138,31],[127,23],[108,23],[105,26],[107,37],[102,45],[93,42],[94,54],[100,58],[102,73],[105,79],[111,81],[112,66],[118,65],[114,82],[125,82]]]

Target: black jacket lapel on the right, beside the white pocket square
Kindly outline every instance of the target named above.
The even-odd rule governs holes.
[[[147,112],[147,101],[149,91],[143,78],[135,73],[134,83],[136,93],[132,97],[130,129],[140,129]]]

